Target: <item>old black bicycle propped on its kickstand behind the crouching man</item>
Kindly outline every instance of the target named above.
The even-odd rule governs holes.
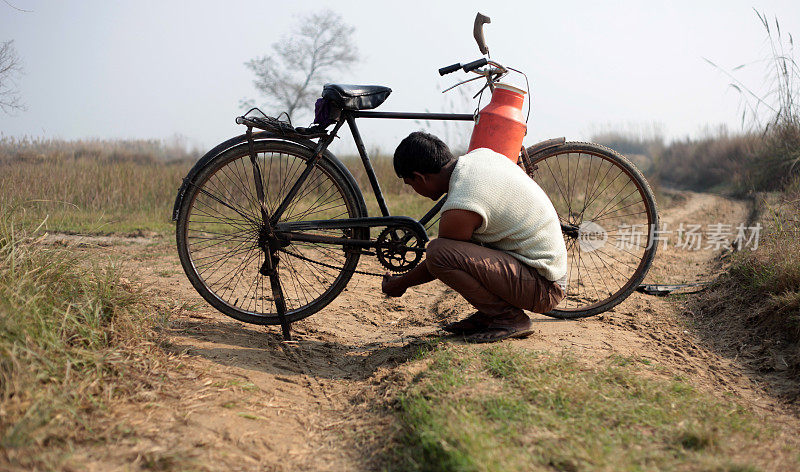
[[[487,22],[478,14],[474,25],[485,56]],[[456,70],[478,75],[457,85],[484,78],[482,91],[516,71],[482,57],[439,73]],[[474,121],[475,115],[372,110],[390,92],[383,86],[328,84],[318,116],[330,122],[311,128],[251,110],[236,119],[247,127],[244,134],[198,160],[181,184],[172,218],[183,269],[213,307],[243,322],[281,324],[288,340],[291,323],[328,305],[353,274],[370,274],[356,268],[361,256],[374,256],[393,272],[422,260],[427,228],[437,221],[446,195],[419,219],[390,215],[356,119]],[[381,216],[368,215],[355,179],[328,150],[344,124]],[[609,148],[564,138],[523,147],[518,163],[553,202],[567,245],[567,296],[545,315],[591,316],[625,300],[657,250],[656,202],[641,172]],[[371,230],[380,231],[373,238]],[[609,240],[617,244],[606,246]]]

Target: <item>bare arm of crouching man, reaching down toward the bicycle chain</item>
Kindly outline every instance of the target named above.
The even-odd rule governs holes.
[[[439,237],[456,241],[469,241],[472,233],[483,223],[481,215],[469,210],[447,210],[439,221]],[[383,276],[381,290],[390,297],[402,296],[409,287],[422,285],[435,277],[428,270],[427,261],[403,275],[393,276],[388,272]]]

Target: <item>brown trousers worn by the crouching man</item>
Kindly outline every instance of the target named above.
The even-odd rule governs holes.
[[[548,312],[565,296],[557,283],[497,249],[437,238],[428,244],[426,261],[434,277],[500,324],[528,319],[523,309]]]

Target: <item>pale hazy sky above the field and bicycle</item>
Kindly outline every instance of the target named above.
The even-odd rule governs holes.
[[[740,96],[703,58],[729,69],[756,62],[740,74],[759,90],[764,67],[757,61],[769,49],[753,8],[777,16],[784,33],[800,35],[798,0],[2,0],[0,41],[15,41],[28,109],[0,114],[0,133],[67,139],[178,134],[211,147],[242,132],[233,122],[241,114],[239,100],[256,95],[244,62],[269,52],[298,16],[324,7],[355,26],[361,54],[338,81],[391,87],[381,110],[394,111],[472,111],[468,103],[453,109],[457,96],[440,93],[465,74],[440,78],[436,71],[480,57],[472,21],[477,11],[489,15],[492,56],[531,81],[528,144],[653,125],[668,138],[720,124],[737,130]],[[368,148],[387,150],[421,126],[359,124]],[[344,137],[349,141],[349,133]]]

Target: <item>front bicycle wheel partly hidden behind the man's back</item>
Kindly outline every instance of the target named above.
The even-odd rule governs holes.
[[[561,222],[581,228],[578,237],[564,234],[567,296],[544,314],[583,318],[620,304],[642,282],[658,250],[658,207],[647,180],[624,156],[593,143],[567,142],[539,151],[525,167],[550,197]],[[601,175],[603,181],[595,182]],[[617,199],[620,194],[625,197]],[[626,201],[630,196],[634,198]],[[613,246],[605,244],[609,239]]]

